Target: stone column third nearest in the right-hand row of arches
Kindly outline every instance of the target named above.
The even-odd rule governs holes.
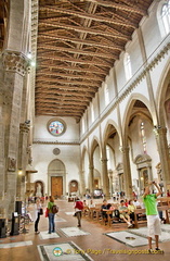
[[[109,181],[107,173],[107,159],[101,159],[102,163],[102,182],[103,182],[103,192],[106,198],[109,198]]]

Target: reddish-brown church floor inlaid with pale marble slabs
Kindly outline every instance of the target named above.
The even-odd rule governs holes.
[[[35,235],[34,223],[30,223],[27,226],[28,233],[0,238],[0,261],[143,261],[144,258],[147,261],[153,259],[154,261],[161,259],[169,261],[170,225],[162,225],[166,240],[160,241],[160,248],[165,251],[164,254],[149,254],[147,253],[147,239],[143,236],[145,227],[142,229],[140,227],[139,231],[127,229],[125,223],[113,224],[108,227],[83,217],[81,228],[78,228],[77,219],[68,214],[74,212],[73,202],[57,200],[57,204],[60,212],[55,219],[56,233],[48,234],[48,219],[41,216],[40,234]],[[29,209],[34,216],[34,206]],[[121,237],[119,232],[121,232]],[[154,244],[153,247],[155,248]]]

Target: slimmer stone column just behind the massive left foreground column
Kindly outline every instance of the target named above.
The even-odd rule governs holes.
[[[19,124],[19,141],[18,141],[18,170],[22,174],[17,175],[16,197],[19,200],[25,198],[25,179],[26,179],[26,165],[28,163],[27,145],[28,145],[29,125],[26,123]]]

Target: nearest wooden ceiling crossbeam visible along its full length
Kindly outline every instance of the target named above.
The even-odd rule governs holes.
[[[63,8],[54,8],[54,7],[40,7],[39,8],[40,11],[45,11],[45,12],[51,12],[51,13],[63,13],[63,14],[69,14],[69,15],[74,15],[74,16],[77,16],[77,17],[80,17],[80,18],[87,18],[87,20],[93,20],[93,21],[97,21],[97,22],[102,22],[102,23],[108,23],[108,24],[114,24],[114,25],[118,25],[118,26],[125,26],[125,27],[130,27],[130,28],[133,28],[135,29],[136,28],[136,24],[128,21],[128,23],[123,23],[121,21],[118,21],[118,20],[115,20],[115,18],[107,18],[107,17],[104,17],[104,16],[100,16],[100,15],[96,15],[96,14],[89,14],[89,13],[86,13],[86,11],[83,12],[78,12],[78,11],[74,11],[74,10],[68,10],[68,9],[63,9]],[[114,12],[113,12],[114,14]],[[45,17],[45,18],[42,18],[42,15],[40,17],[40,21],[56,21],[58,20],[58,17]]]

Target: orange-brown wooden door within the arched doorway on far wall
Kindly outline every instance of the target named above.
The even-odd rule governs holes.
[[[51,195],[57,198],[63,195],[63,177],[62,176],[51,177]]]

